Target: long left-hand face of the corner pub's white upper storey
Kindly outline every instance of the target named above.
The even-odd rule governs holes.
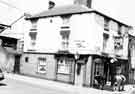
[[[93,14],[76,14],[67,16],[34,19],[32,28],[25,35],[24,51],[90,53],[94,50],[99,35],[93,30]],[[101,46],[101,45],[100,45]],[[87,51],[87,52],[86,52]]]

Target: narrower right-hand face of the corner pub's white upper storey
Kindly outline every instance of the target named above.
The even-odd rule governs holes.
[[[127,58],[129,26],[99,14],[95,14],[94,26],[95,30],[102,32],[103,53]]]

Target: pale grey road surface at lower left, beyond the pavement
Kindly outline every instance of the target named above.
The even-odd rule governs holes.
[[[73,94],[73,93],[7,78],[0,82],[0,94]]]

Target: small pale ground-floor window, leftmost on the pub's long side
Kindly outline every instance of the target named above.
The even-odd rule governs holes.
[[[46,58],[38,58],[38,73],[46,73]]]

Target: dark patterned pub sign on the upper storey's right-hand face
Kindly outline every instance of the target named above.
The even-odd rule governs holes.
[[[119,36],[114,37],[114,49],[121,50],[123,49],[123,38]]]

